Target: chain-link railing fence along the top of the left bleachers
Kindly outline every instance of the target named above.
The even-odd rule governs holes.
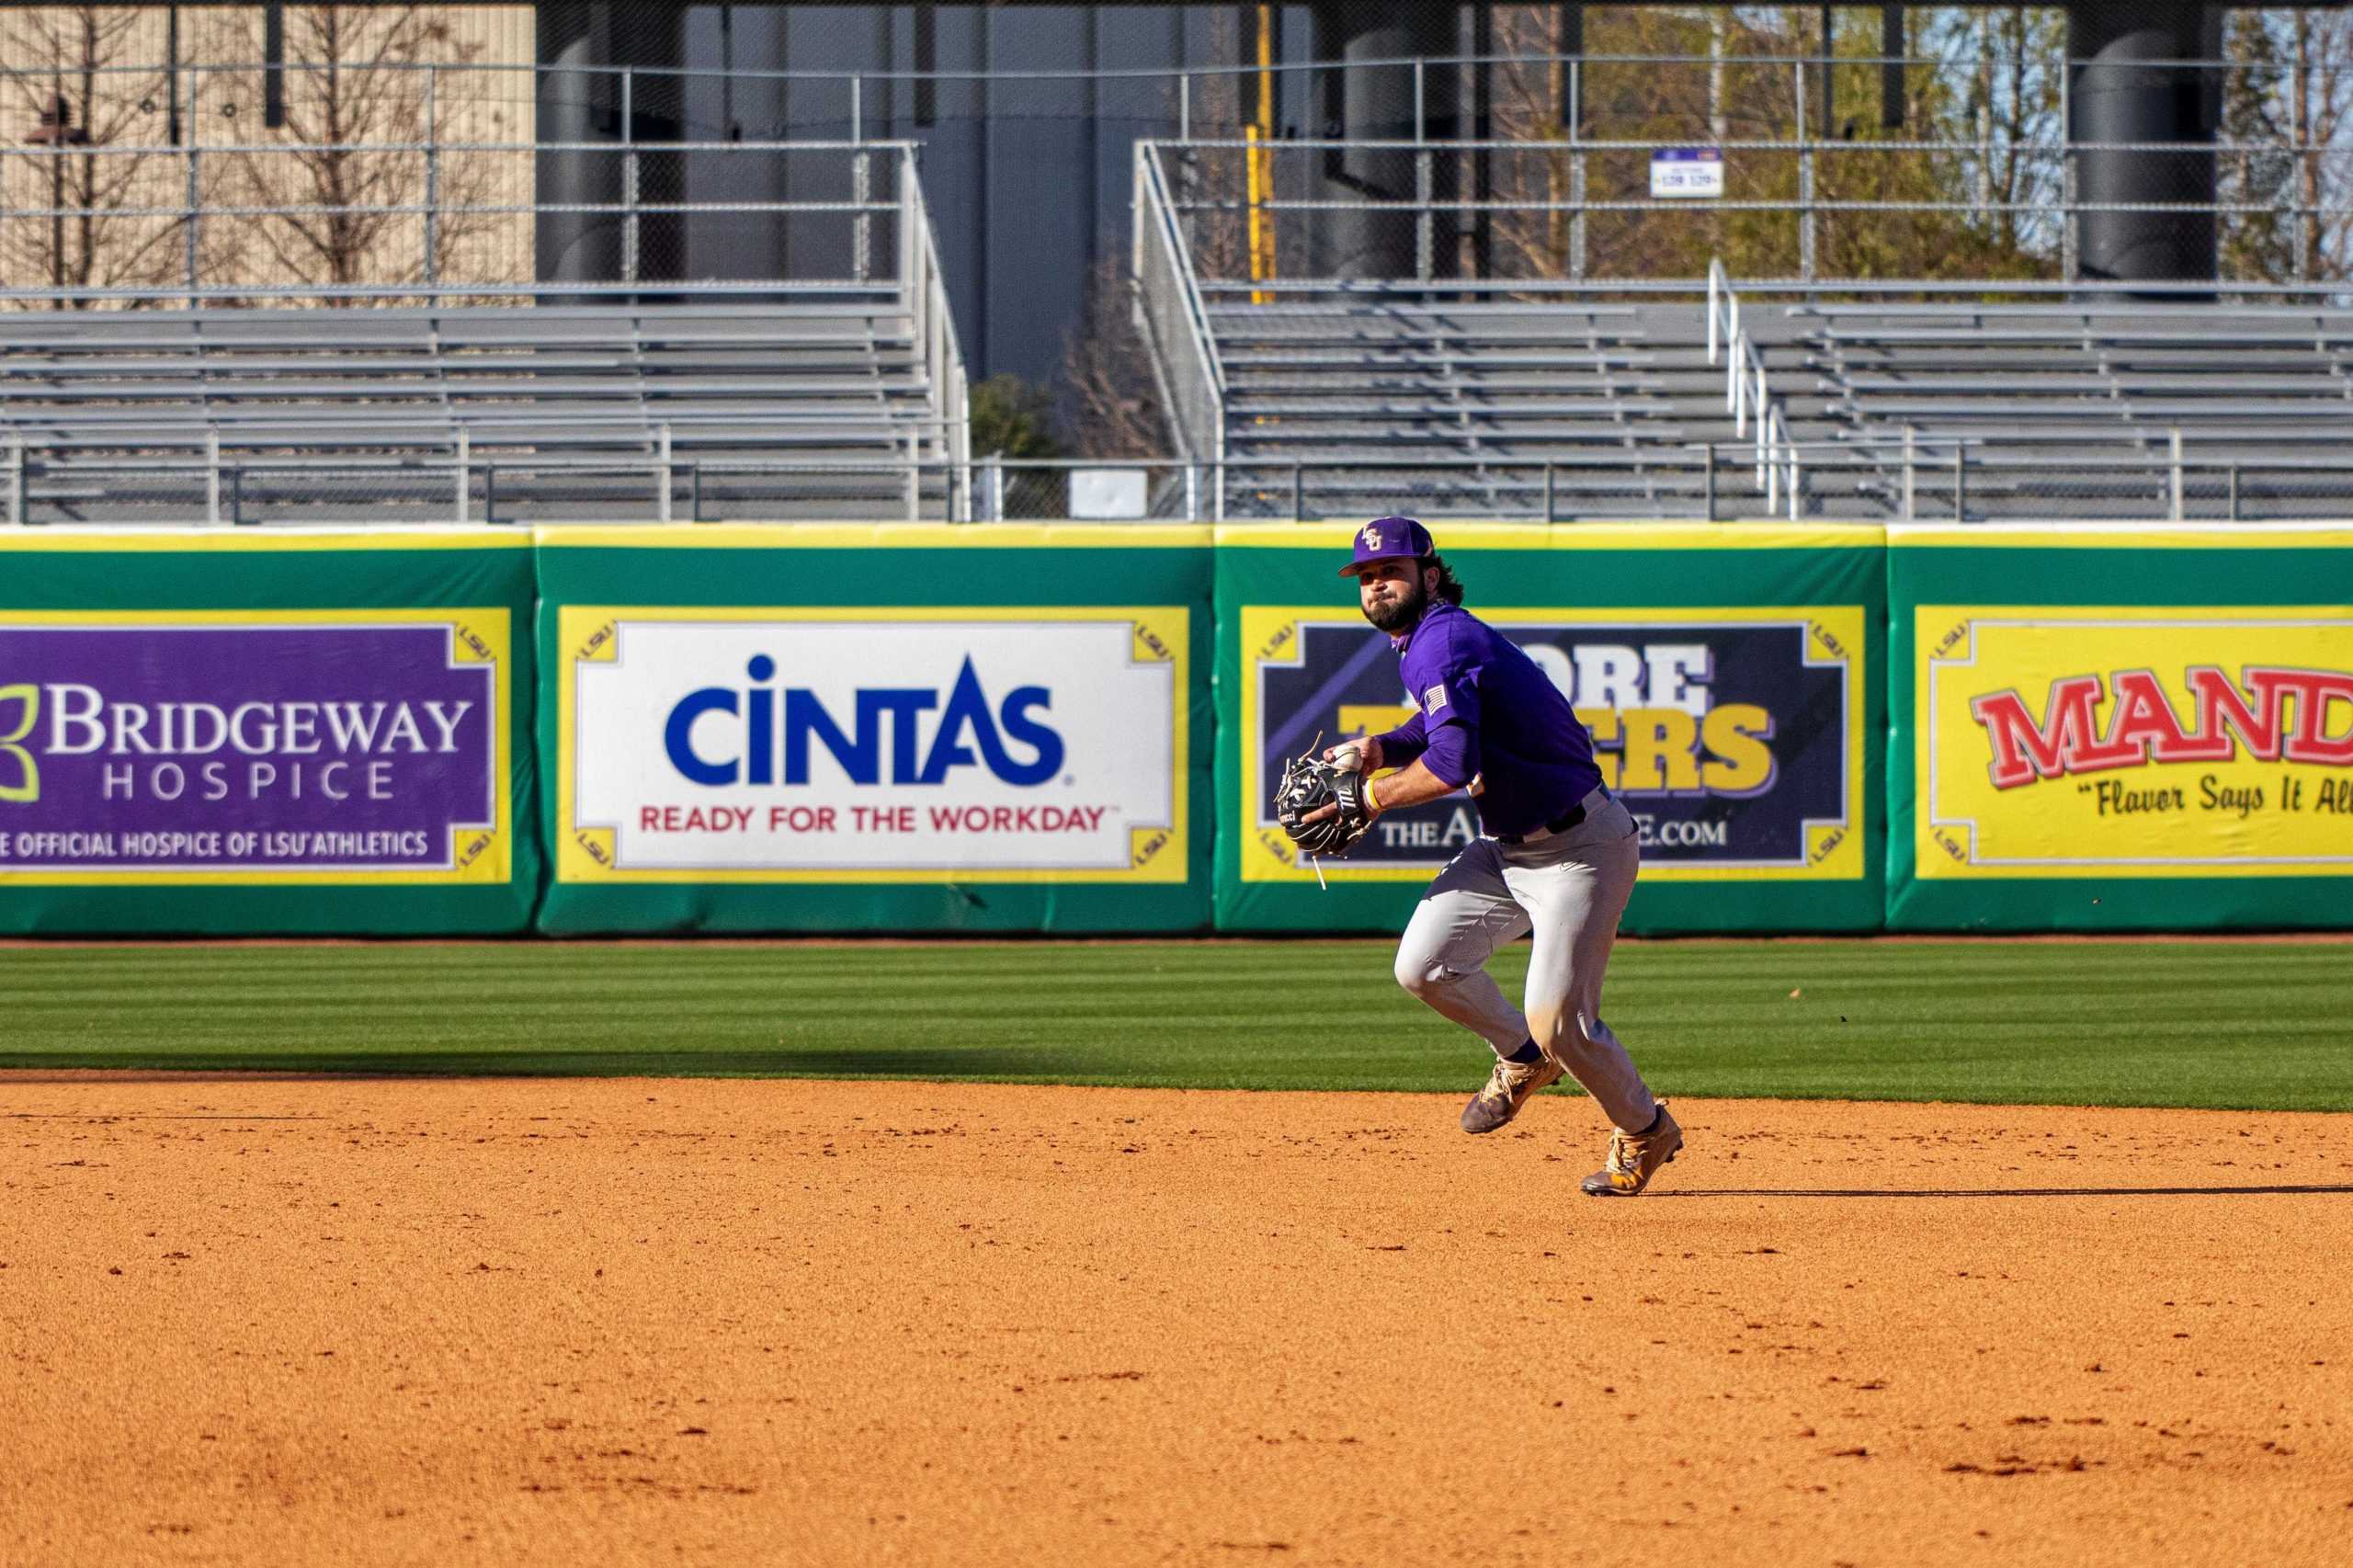
[[[548,160],[598,200],[534,200]],[[840,141],[0,146],[0,304],[889,285],[904,167]]]

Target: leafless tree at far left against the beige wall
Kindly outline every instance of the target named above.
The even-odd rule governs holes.
[[[172,82],[148,66],[136,7],[0,9],[0,113],[12,151],[0,181],[0,280],[78,290],[40,301],[94,304],[87,290],[151,287],[184,275],[176,160],[167,146]],[[104,148],[104,151],[101,151]]]

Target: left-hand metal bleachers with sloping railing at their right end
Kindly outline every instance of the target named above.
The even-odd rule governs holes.
[[[911,160],[892,212],[882,280],[7,311],[5,520],[960,516],[965,367]]]

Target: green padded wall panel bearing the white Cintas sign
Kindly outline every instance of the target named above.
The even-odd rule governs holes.
[[[1209,532],[546,530],[546,930],[1207,923]]]

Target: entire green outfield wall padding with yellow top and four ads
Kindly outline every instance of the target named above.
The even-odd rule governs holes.
[[[1473,525],[1628,932],[2353,925],[2353,530]],[[1402,928],[1337,525],[0,532],[0,935]]]

